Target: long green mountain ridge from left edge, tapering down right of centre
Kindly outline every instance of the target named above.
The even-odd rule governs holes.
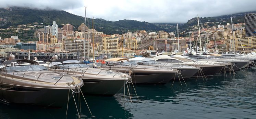
[[[51,25],[52,21],[60,26],[60,24],[70,23],[77,28],[81,23],[84,23],[84,17],[77,16],[63,10],[38,10],[24,7],[9,7],[0,8],[0,28],[8,28],[10,26],[17,26],[18,24],[27,23],[44,23],[44,25]],[[86,25],[92,28],[92,19],[86,19]],[[122,33],[136,30],[161,30],[156,25],[149,22],[140,22],[135,20],[119,20],[107,21],[104,19],[94,19],[94,28],[99,32],[106,34]]]

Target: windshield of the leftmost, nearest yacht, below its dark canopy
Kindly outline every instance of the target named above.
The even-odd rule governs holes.
[[[41,70],[47,70],[43,65],[17,65],[17,66],[4,67],[4,69],[7,69],[7,72],[13,72],[13,70],[15,70],[15,71],[41,71]]]

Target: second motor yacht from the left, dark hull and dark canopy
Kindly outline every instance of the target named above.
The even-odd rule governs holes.
[[[126,81],[131,82],[130,75],[89,67],[87,64],[74,59],[62,58],[53,61],[49,65],[49,70],[70,75],[82,74],[84,86],[81,89],[84,94],[89,95],[113,96],[124,86]]]

